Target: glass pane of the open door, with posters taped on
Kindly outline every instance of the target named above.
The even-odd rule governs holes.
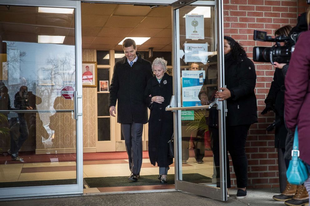
[[[199,13],[203,15],[204,38],[187,39],[186,18],[183,17],[186,14],[191,14],[192,11],[200,11],[201,9],[207,11]],[[192,13],[197,14],[197,12]],[[181,54],[191,50],[196,45],[204,44],[206,47],[206,50],[203,51],[204,58],[199,56],[202,53],[197,55],[198,58],[196,58],[196,53],[193,53],[192,60],[189,61],[185,59],[185,55],[180,55],[179,72],[181,77],[181,105],[183,107],[209,105],[215,99],[214,94],[217,91],[217,40],[214,22],[214,7],[212,6],[185,6],[179,9]],[[193,27],[192,31],[199,27],[196,24],[194,26],[196,28]],[[185,48],[185,43],[189,44],[190,48]],[[217,109],[181,111],[181,126],[182,138],[178,142],[178,146],[182,150],[180,180],[220,187]]]

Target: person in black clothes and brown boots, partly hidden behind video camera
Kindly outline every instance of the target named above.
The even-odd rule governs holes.
[[[291,30],[292,26],[283,26],[275,31],[274,35],[276,37],[287,37]],[[284,46],[284,42],[281,42],[280,45]],[[284,75],[281,69],[276,67],[273,75],[273,81],[271,82],[267,98],[265,99],[266,108],[262,111],[261,114],[267,114],[269,111],[274,111],[276,114],[274,123],[267,127],[267,131],[271,131],[273,128],[275,128],[274,146],[278,151],[279,182],[282,183],[283,186],[285,185],[285,180],[283,179],[286,179],[286,169],[288,168],[289,164],[289,160],[283,158],[285,152],[285,139],[287,136],[287,129],[284,124],[284,90]],[[282,165],[285,165],[285,168],[283,168]],[[286,188],[291,187],[292,185],[286,181]],[[281,188],[280,190],[283,191],[282,194],[274,195],[272,197],[274,200],[285,201],[289,198],[289,196],[292,198],[292,195],[295,193],[295,189],[293,188],[292,192],[290,192],[290,190],[284,190],[284,188]]]

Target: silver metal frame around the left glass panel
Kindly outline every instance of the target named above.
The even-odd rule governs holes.
[[[76,65],[76,172],[77,184],[0,188],[0,198],[47,195],[83,194],[83,118],[82,118],[82,33],[81,2],[71,0],[0,0],[1,5],[75,8],[75,65]]]

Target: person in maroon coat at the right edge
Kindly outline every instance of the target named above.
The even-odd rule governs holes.
[[[310,24],[310,9],[307,11],[307,26]],[[298,125],[299,158],[310,170],[310,31],[303,32],[292,53],[287,75],[285,77],[285,121],[289,130],[295,131]],[[310,192],[310,179],[305,182]],[[301,186],[303,187],[303,186]],[[301,194],[300,196],[302,196]],[[301,198],[300,198],[301,199]],[[309,203],[300,200],[299,205]]]

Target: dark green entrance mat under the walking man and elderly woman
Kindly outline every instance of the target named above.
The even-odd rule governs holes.
[[[158,175],[143,175],[137,182],[128,180],[128,176],[123,177],[86,177],[84,181],[88,187],[121,187],[121,186],[144,186],[161,184],[157,179]],[[174,175],[168,175],[168,184],[174,184]],[[183,180],[192,183],[211,183],[212,179],[198,173],[183,174]]]

